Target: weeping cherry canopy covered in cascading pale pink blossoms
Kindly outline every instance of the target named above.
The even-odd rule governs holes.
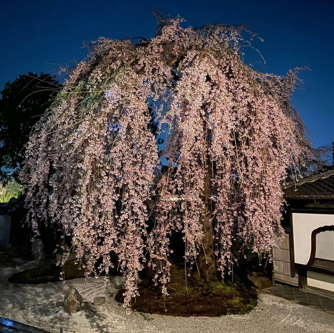
[[[145,261],[167,294],[173,230],[205,280],[215,265],[229,270],[233,239],[269,250],[282,232],[287,172],[298,177],[310,153],[290,103],[298,69],[282,77],[245,65],[242,47],[257,37],[245,25],[181,22],[165,20],[137,43],[94,42],[37,125],[22,171],[34,230],[39,220],[60,225],[87,276],[97,262],[108,272],[115,252],[125,305]],[[158,181],[148,106],[166,132]]]

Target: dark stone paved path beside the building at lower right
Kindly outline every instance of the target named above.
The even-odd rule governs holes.
[[[275,285],[262,289],[270,294],[294,300],[295,302],[319,308],[334,314],[334,299],[330,297],[313,294],[287,285]]]

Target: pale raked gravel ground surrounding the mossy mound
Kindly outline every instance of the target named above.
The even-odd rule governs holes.
[[[4,316],[28,325],[59,333],[62,325],[65,333],[95,332],[224,332],[224,333],[286,333],[334,332],[334,315],[319,309],[303,306],[268,293],[260,292],[258,306],[247,315],[224,317],[169,317],[133,312],[127,315],[114,295],[124,283],[121,277],[75,279],[38,285],[12,284],[8,276],[36,267],[36,262],[16,268],[0,268],[0,317]],[[69,315],[63,311],[64,293],[75,287],[84,301],[92,302],[96,296],[104,296],[106,304],[96,307],[96,312],[81,310]]]

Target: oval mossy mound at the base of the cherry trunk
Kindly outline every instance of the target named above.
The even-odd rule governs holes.
[[[184,268],[175,264],[171,266],[171,281],[167,284],[167,290],[169,296],[164,299],[161,287],[145,279],[139,285],[140,296],[131,307],[160,315],[218,317],[248,313],[257,304],[256,290],[242,282],[205,283],[189,277],[186,285]],[[116,294],[117,301],[123,302],[123,292],[120,290]]]

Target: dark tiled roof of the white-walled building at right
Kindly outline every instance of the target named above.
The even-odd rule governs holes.
[[[334,199],[334,170],[290,182],[285,190],[286,198]]]

